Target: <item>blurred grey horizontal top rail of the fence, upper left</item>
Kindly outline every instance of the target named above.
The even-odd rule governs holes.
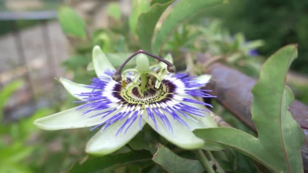
[[[56,11],[0,12],[0,21],[56,19]]]

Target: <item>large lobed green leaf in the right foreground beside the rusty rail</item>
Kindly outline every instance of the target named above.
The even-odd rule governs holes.
[[[300,147],[302,129],[288,111],[294,100],[286,74],[297,56],[295,45],[286,46],[267,59],[254,86],[252,120],[255,138],[235,128],[196,129],[198,137],[239,150],[273,172],[303,172]]]

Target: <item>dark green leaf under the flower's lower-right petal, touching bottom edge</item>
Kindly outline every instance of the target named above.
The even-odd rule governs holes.
[[[152,160],[168,172],[204,172],[204,167],[199,160],[180,157],[163,145],[159,146]]]

